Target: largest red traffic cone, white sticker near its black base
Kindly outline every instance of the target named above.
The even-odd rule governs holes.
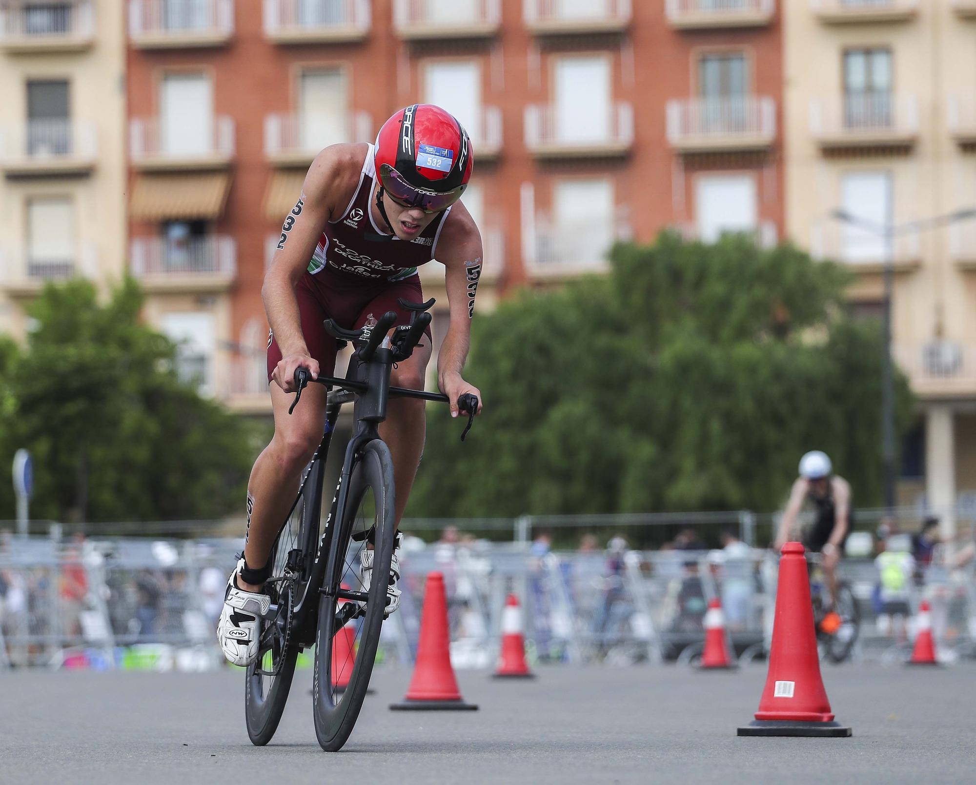
[[[820,676],[803,546],[787,543],[782,553],[766,686],[755,720],[738,735],[849,736],[849,727],[834,723]]]

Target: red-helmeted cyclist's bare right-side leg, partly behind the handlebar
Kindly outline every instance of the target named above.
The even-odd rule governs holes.
[[[421,339],[409,359],[397,363],[390,376],[390,385],[412,390],[423,390],[427,377],[427,362],[432,348],[427,336]],[[417,476],[417,467],[424,454],[427,435],[427,419],[423,400],[417,398],[390,398],[386,408],[386,422],[380,424],[380,435],[389,447],[393,458],[393,481],[396,484],[396,527],[407,506],[410,489]],[[253,524],[252,524],[253,525]]]

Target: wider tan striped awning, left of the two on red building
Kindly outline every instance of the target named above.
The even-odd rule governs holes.
[[[226,172],[142,174],[129,199],[129,216],[136,221],[214,221],[224,212],[229,186]]]

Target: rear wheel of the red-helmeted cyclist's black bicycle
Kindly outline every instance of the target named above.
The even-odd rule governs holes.
[[[258,659],[248,666],[244,687],[247,734],[257,746],[267,744],[277,730],[295,674],[299,647],[292,638],[291,611],[305,591],[307,555],[318,531],[317,521],[307,520],[311,505],[305,504],[305,494],[314,486],[314,482],[305,484],[295,510],[271,548],[271,576],[265,587],[278,612],[262,623]]]

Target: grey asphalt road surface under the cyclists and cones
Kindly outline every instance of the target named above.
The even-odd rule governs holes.
[[[324,753],[310,672],[277,735],[251,746],[243,676],[0,672],[0,782],[974,782],[976,664],[825,666],[847,739],[738,738],[761,666],[550,667],[534,682],[461,672],[478,712],[399,713],[409,673],[377,669],[346,749]]]

